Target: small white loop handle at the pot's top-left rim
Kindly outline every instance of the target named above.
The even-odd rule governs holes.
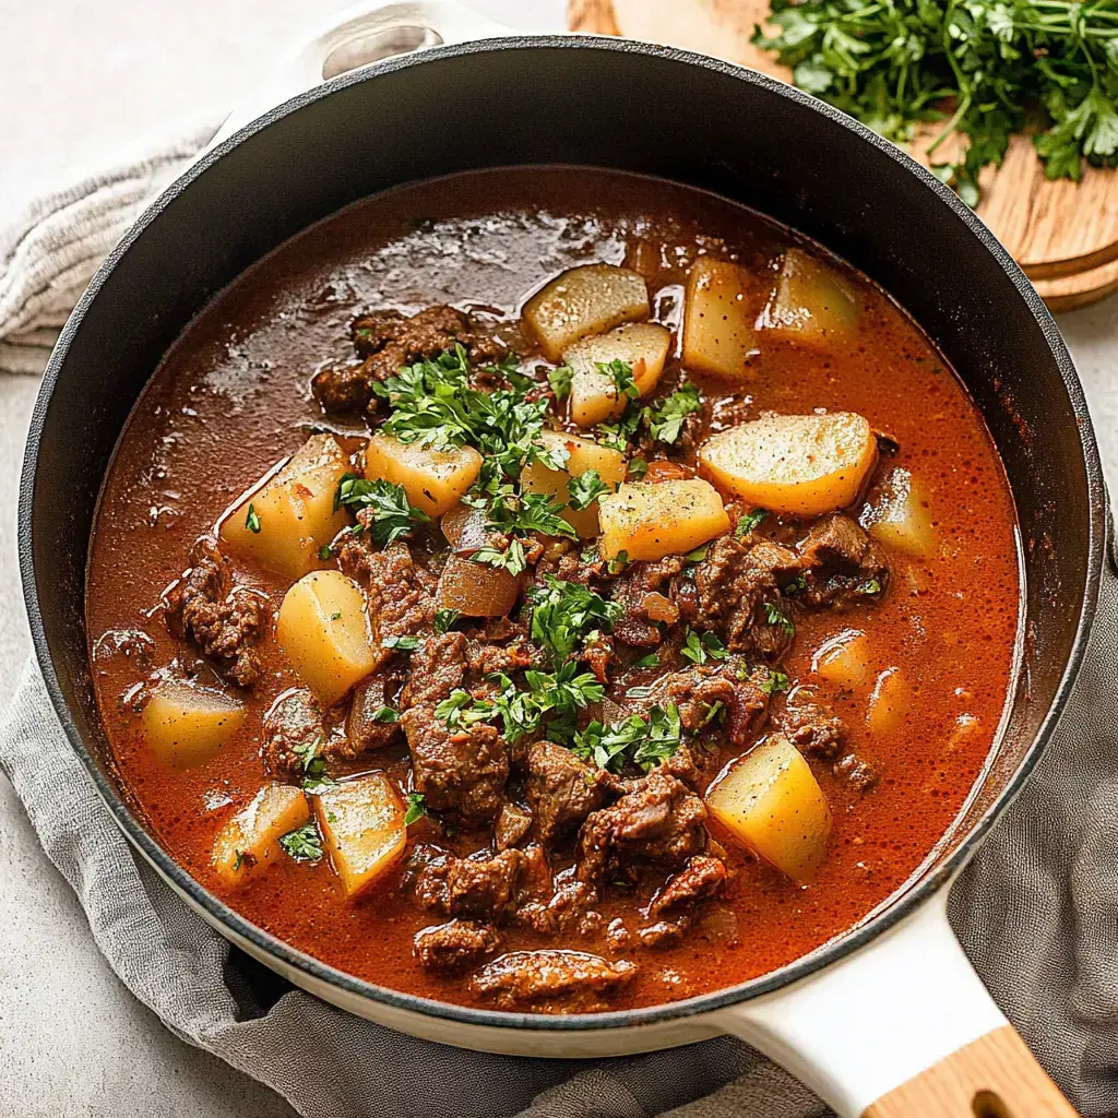
[[[515,34],[513,28],[453,0],[358,0],[299,37],[252,101],[234,110],[205,150],[216,148],[276,105],[339,74],[424,47]]]

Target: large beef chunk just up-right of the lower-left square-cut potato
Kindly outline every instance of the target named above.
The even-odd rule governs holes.
[[[416,792],[436,812],[465,824],[483,823],[501,809],[509,752],[496,728],[477,723],[451,729],[434,707],[413,707],[400,720],[411,750]]]

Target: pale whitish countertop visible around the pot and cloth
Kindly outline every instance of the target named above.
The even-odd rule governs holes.
[[[524,30],[563,0],[472,0]],[[220,116],[293,28],[333,0],[0,0],[0,224],[42,190]],[[1060,326],[1118,470],[1118,299]],[[16,562],[17,481],[37,385],[0,378],[0,703],[28,654]],[[277,1096],[177,1040],[94,946],[82,908],[0,778],[0,1118],[272,1118]]]

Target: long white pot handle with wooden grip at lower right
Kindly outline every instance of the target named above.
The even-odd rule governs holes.
[[[947,921],[947,889],[837,964],[716,1014],[842,1118],[1074,1118]]]

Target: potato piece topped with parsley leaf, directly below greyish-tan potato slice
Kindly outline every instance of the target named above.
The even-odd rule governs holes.
[[[570,366],[570,417],[579,427],[593,427],[612,416],[619,416],[628,402],[618,394],[614,378],[599,364],[624,361],[633,370],[633,382],[641,396],[647,396],[664,371],[672,332],[652,322],[634,322],[608,334],[584,338],[568,349],[563,363]]]

